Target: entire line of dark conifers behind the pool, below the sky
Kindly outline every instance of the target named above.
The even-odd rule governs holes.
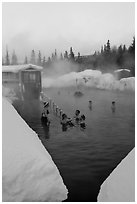
[[[72,47],[70,52],[64,52],[64,54],[57,54],[55,50],[51,54],[51,57],[46,59],[42,57],[39,50],[36,56],[35,50],[31,51],[30,59],[25,56],[24,64],[32,63],[39,66],[43,66],[45,69],[52,69],[53,63],[59,61],[70,61],[73,64],[79,65],[79,71],[85,69],[99,69],[102,72],[113,72],[116,69],[130,69],[132,76],[135,76],[135,37],[131,45],[127,48],[126,45],[119,45],[118,47],[111,47],[110,41],[101,47],[100,51],[95,51],[92,55],[81,56],[80,52],[77,55],[74,54]],[[13,51],[11,57],[8,49],[6,49],[6,55],[2,57],[2,65],[17,65],[19,64],[17,55]],[[65,67],[64,67],[65,69]]]

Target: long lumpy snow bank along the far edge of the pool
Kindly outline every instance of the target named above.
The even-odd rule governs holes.
[[[110,73],[102,74],[101,71],[89,69],[82,72],[71,72],[56,78],[43,78],[42,85],[43,87],[76,86],[76,81],[79,85],[99,89],[135,90],[135,77],[116,80]]]

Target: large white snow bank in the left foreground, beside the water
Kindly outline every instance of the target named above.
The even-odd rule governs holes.
[[[68,191],[51,156],[13,106],[2,102],[3,201],[65,200]]]

